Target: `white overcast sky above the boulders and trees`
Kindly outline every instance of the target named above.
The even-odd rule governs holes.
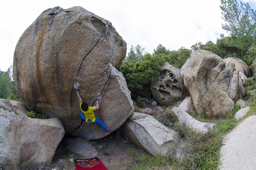
[[[252,8],[256,0],[244,0]],[[0,70],[13,65],[15,46],[24,30],[46,9],[81,6],[110,21],[131,46],[153,53],[159,44],[170,50],[191,49],[195,43],[216,43],[221,29],[220,0],[3,0],[0,2]],[[256,8],[254,8],[256,9]]]

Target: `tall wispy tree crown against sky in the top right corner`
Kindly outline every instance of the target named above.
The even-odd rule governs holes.
[[[256,12],[248,3],[238,4],[236,0],[221,0],[221,14],[226,22],[222,28],[232,36],[254,36],[256,31]]]

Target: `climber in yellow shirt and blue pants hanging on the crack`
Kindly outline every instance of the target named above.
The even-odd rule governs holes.
[[[98,97],[96,98],[96,106],[88,106],[87,103],[82,101],[82,99],[79,95],[78,87],[76,86],[76,84],[74,84],[74,89],[76,90],[76,95],[77,95],[78,100],[79,100],[79,106],[80,106],[80,109],[82,111],[82,113],[80,114],[80,117],[84,121],[88,122],[89,125],[90,124],[99,124],[99,125],[101,125],[101,127],[105,131],[109,131],[110,129],[105,126],[104,122],[102,122],[101,119],[95,118],[95,114],[93,112],[96,109],[99,109],[99,99],[98,99]]]

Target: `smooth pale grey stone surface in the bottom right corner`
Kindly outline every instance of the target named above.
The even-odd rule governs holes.
[[[256,169],[256,115],[241,122],[223,139],[220,170]]]

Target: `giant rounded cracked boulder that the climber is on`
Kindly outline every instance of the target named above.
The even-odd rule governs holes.
[[[82,119],[73,84],[79,84],[80,96],[88,105],[101,96],[96,117],[116,130],[133,114],[126,80],[116,69],[126,49],[110,21],[82,7],[45,10],[15,48],[18,93],[29,110],[60,118],[67,134],[88,140],[107,136],[110,131],[99,125],[74,131]]]

